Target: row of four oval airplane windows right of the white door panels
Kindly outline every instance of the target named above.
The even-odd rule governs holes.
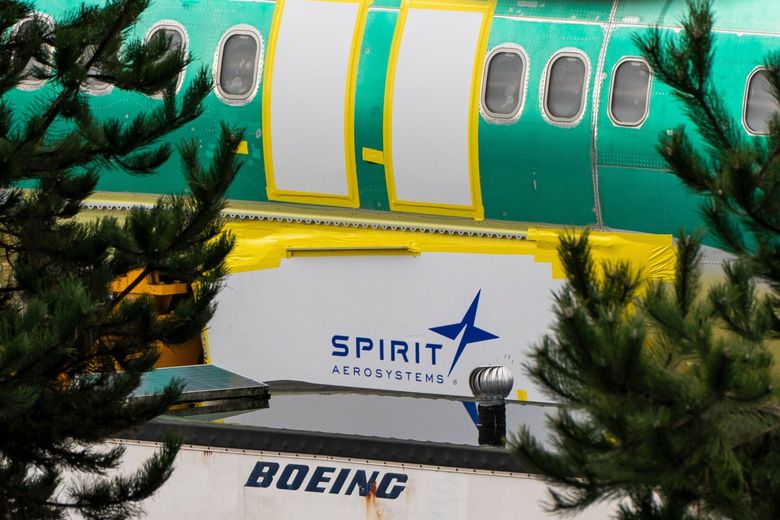
[[[496,123],[512,123],[522,113],[528,57],[519,47],[499,46],[487,57],[482,87],[482,112]],[[576,124],[585,110],[589,62],[585,54],[566,50],[553,55],[542,83],[544,116],[553,124]],[[642,58],[621,59],[614,69],[608,114],[618,126],[639,127],[647,118],[652,73]],[[754,135],[769,133],[769,121],[780,110],[766,69],[748,77],[743,124]]]

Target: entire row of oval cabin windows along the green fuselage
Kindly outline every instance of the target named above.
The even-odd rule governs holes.
[[[45,17],[45,15],[43,15]],[[24,30],[23,20],[16,31]],[[188,38],[184,26],[173,20],[155,23],[146,33],[146,40],[166,37],[170,49],[187,52]],[[262,54],[260,33],[249,25],[233,27],[225,32],[217,46],[215,56],[215,85],[218,97],[230,105],[242,105],[251,101],[257,89],[257,69]],[[91,57],[89,49],[83,59]],[[488,55],[482,87],[482,112],[488,120],[498,123],[519,119],[525,101],[528,57],[525,51],[511,44],[502,45]],[[28,78],[20,83],[24,90],[40,88],[43,79],[31,77],[35,67],[41,64],[30,60],[26,72]],[[566,50],[555,54],[545,71],[543,103],[545,117],[553,124],[569,126],[582,117],[586,104],[586,86],[589,62],[585,54]],[[93,74],[99,71],[90,70]],[[179,75],[179,87],[184,71]],[[610,89],[608,114],[618,126],[638,127],[649,111],[652,73],[641,58],[621,59],[614,69]],[[111,86],[98,79],[87,81],[85,90],[92,94],[107,94]],[[758,68],[748,78],[743,106],[743,124],[748,132],[766,135],[769,121],[778,111],[765,69]]]

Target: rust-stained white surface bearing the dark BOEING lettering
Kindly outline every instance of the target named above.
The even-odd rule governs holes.
[[[128,443],[125,467],[138,467],[154,449],[152,444]],[[268,487],[246,485],[258,462],[279,465]],[[290,464],[305,467],[306,476],[298,489],[279,489],[279,477]],[[319,485],[324,490],[322,493],[307,492],[305,488],[318,466],[335,471],[326,475],[329,482]],[[349,470],[347,482],[340,492],[331,493],[341,470]],[[357,471],[366,475],[378,472],[377,479],[388,474],[399,475],[388,489],[400,493],[394,499],[361,496],[357,488],[346,494],[349,481]],[[404,478],[406,482],[401,483],[399,480]],[[185,446],[179,452],[171,479],[143,507],[149,520],[558,518],[544,511],[542,501],[546,498],[546,488],[537,477],[526,474],[456,472],[430,466]],[[599,504],[575,518],[602,520],[610,513],[614,513],[611,507]]]

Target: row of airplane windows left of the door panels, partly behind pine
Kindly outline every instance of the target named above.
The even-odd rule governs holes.
[[[44,19],[48,19],[45,15]],[[32,23],[31,19],[19,22],[15,31],[23,31],[26,24]],[[187,52],[189,39],[184,26],[174,20],[164,20],[155,23],[146,33],[145,40],[165,37],[168,39],[170,51],[181,50]],[[214,83],[217,96],[230,105],[242,105],[251,101],[257,89],[257,68],[262,51],[260,33],[249,25],[239,25],[225,32],[217,46],[214,69]],[[89,60],[94,52],[87,48],[82,57],[83,62]],[[23,90],[35,90],[41,88],[45,79],[33,77],[33,70],[42,65],[36,60],[30,60],[26,65],[23,75],[25,79],[20,82],[19,88]],[[89,74],[98,75],[97,67],[89,70]],[[179,74],[177,90],[184,79],[184,71]],[[94,95],[104,95],[111,91],[111,85],[97,78],[90,78],[84,85],[84,90]]]

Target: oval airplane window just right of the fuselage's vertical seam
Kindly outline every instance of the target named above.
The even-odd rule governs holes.
[[[624,126],[638,126],[647,117],[650,68],[642,60],[624,60],[615,69],[609,111],[612,120]]]

